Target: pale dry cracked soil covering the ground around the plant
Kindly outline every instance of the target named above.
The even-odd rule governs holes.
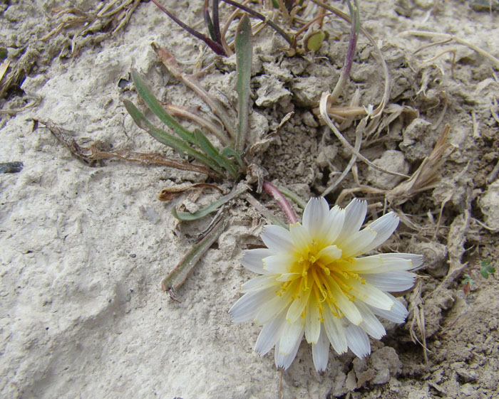
[[[187,21],[201,19],[202,1],[164,3]],[[24,162],[19,173],[0,175],[2,398],[498,397],[498,277],[485,280],[478,273],[482,260],[495,265],[498,259],[498,69],[456,42],[413,54],[430,40],[400,35],[410,29],[451,33],[498,57],[497,11],[473,11],[460,0],[361,2],[363,25],[389,67],[389,103],[406,107],[393,120],[385,114],[386,123],[364,137],[361,152],[379,166],[411,174],[445,124],[455,149],[445,155],[436,188],[405,203],[365,191],[341,203],[352,195],[367,198],[369,218],[385,206],[398,212],[403,223],[381,250],[425,255],[416,288],[403,294],[411,309],[407,323],[387,324],[386,337],[372,342],[364,360],[331,351],[322,374],[302,343],[281,392],[272,354],[262,358],[252,350],[259,327],[232,324],[227,314],[242,282],[252,277],[239,259],[247,245],[259,243],[265,223],[259,213],[242,199],[232,203],[230,228],[178,291],[181,302],[173,302],[159,282],[202,226],[179,228],[170,213],[179,203],[161,203],[157,194],[205,178],[123,161],[89,166],[34,122],[52,119],[80,144],[100,141],[174,156],[125,112],[121,100],[137,100],[130,69],[137,68],[161,100],[193,105],[195,95],[160,65],[150,43],[172,51],[186,70],[215,61],[202,83],[233,108],[234,58],[215,59],[150,2],[140,3],[114,34],[113,21],[97,24],[76,38],[71,53],[81,25],[41,40],[61,21],[50,11],[65,5],[0,6],[1,46],[9,50],[11,68],[26,71],[21,86],[1,99],[2,108],[22,107],[30,93],[41,97],[34,108],[0,115],[0,162]],[[91,11],[102,4],[71,6]],[[326,28],[328,41],[304,57],[285,57],[284,42],[268,29],[254,38],[252,139],[275,129],[287,112],[294,116],[252,161],[305,199],[320,195],[351,156],[317,116],[321,92],[338,78],[349,31],[336,19]],[[444,50],[456,51],[453,73],[451,53],[431,60]],[[379,59],[361,37],[338,103],[347,105],[359,89],[360,104],[376,106],[383,85]],[[343,131],[350,142],[354,131],[354,124]],[[356,174],[364,186],[386,190],[398,183],[360,161]],[[327,199],[334,203],[342,189],[356,186],[350,173]],[[219,195],[201,197],[190,208]],[[279,212],[268,196],[259,198]],[[475,280],[468,294],[463,273]]]

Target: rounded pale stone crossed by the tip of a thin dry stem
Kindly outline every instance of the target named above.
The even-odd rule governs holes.
[[[373,164],[386,169],[387,171],[401,174],[407,174],[409,171],[409,164],[407,163],[403,152],[396,151],[395,149],[384,151],[381,158],[374,160]],[[391,190],[391,188],[395,187],[402,178],[369,168],[366,179],[375,187]]]

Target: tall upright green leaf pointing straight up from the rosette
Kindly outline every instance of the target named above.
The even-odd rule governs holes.
[[[236,90],[239,97],[237,102],[237,153],[242,154],[245,150],[246,135],[248,131],[249,117],[249,80],[251,79],[252,44],[251,44],[251,23],[247,14],[241,18],[236,30],[236,68],[237,83]]]

